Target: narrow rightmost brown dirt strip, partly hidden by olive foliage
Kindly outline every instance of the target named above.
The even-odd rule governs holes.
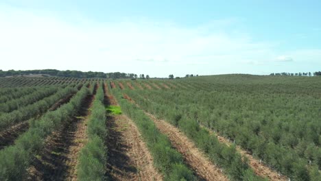
[[[202,126],[202,128],[206,128],[206,127]],[[219,136],[217,132],[213,132],[213,130],[210,130],[209,128],[206,128],[206,130],[209,130],[211,134],[214,134],[219,140],[219,142],[225,143],[226,145],[229,145],[229,146],[233,144],[223,136]],[[268,178],[269,180],[287,180],[287,177],[279,176],[276,171],[264,165],[263,162],[260,162],[259,160],[254,158],[251,154],[241,149],[241,147],[237,146],[237,151],[242,156],[246,156],[246,158],[248,158],[250,167],[254,170],[254,173],[257,174],[258,176],[261,176],[263,178]]]

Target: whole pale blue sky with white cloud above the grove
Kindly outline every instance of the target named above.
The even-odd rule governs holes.
[[[1,0],[0,69],[321,71],[321,1]]]

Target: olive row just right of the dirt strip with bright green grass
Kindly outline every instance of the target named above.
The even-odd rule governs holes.
[[[192,171],[182,161],[182,155],[171,147],[169,139],[161,134],[154,122],[145,113],[123,99],[122,95],[113,90],[123,112],[136,123],[147,147],[154,158],[154,165],[164,174],[164,180],[196,180]]]

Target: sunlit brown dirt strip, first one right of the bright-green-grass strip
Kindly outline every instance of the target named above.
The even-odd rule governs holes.
[[[178,128],[166,121],[156,119],[150,113],[145,112],[145,114],[154,121],[160,132],[168,136],[171,144],[182,154],[187,165],[198,177],[202,180],[228,180],[222,169],[214,165]]]

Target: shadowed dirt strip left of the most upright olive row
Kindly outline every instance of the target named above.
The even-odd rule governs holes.
[[[62,130],[47,138],[43,152],[34,158],[28,169],[27,180],[76,180],[75,166],[78,153],[87,140],[86,121],[96,90],[97,84],[93,95],[88,95],[82,102],[77,117],[66,120]]]

